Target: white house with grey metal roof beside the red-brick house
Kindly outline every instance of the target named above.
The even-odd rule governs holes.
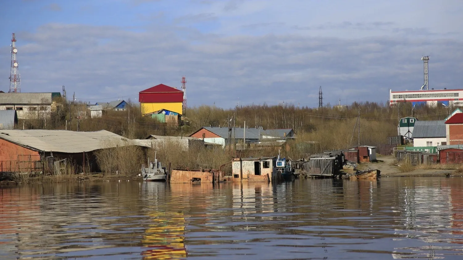
[[[413,146],[446,145],[445,120],[416,121],[413,129]]]

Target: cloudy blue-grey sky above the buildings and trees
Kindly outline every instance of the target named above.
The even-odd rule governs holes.
[[[463,88],[461,0],[0,1],[0,90],[11,33],[22,92],[132,101],[160,83],[188,105],[385,102],[388,91]]]

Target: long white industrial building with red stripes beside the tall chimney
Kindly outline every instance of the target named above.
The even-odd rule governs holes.
[[[400,102],[411,102],[427,106],[463,106],[463,89],[418,90],[418,91],[392,91],[389,90],[390,105]]]

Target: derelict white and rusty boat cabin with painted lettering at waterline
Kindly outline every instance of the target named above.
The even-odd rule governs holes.
[[[277,164],[280,164],[277,167]],[[277,157],[234,158],[232,160],[233,182],[281,181],[282,171],[278,168],[286,164]]]

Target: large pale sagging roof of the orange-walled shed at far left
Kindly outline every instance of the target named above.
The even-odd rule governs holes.
[[[74,132],[66,130],[1,130],[0,138],[39,151],[80,153],[132,145],[130,139],[106,130]]]

